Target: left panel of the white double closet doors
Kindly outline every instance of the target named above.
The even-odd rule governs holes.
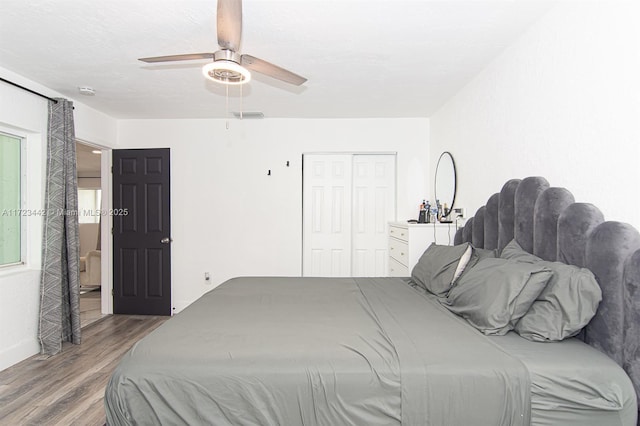
[[[304,156],[303,276],[351,275],[351,157]]]

